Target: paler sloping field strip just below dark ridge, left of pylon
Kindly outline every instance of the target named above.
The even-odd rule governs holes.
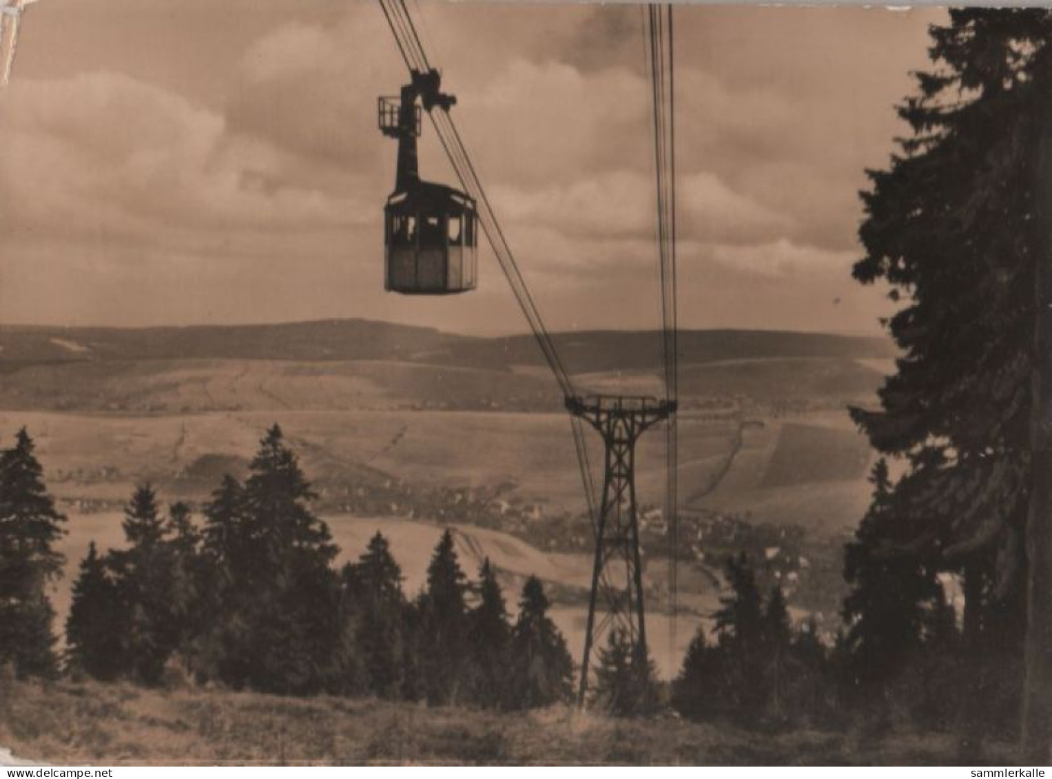
[[[0,406],[11,409],[132,414],[440,406],[558,409],[552,382],[543,374],[394,361],[56,362],[23,367],[4,378]]]

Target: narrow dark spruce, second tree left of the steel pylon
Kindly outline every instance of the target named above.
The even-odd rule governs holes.
[[[479,604],[468,614],[471,697],[480,705],[499,706],[507,697],[510,638],[504,593],[487,557],[479,570]]]

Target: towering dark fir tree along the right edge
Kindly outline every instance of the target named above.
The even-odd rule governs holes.
[[[1049,384],[1032,378],[1043,365],[1050,372],[1047,345],[1035,347],[1047,311],[1037,282],[1048,278],[1050,253],[1038,197],[1049,178],[1039,163],[1052,124],[1050,33],[1044,8],[953,9],[948,24],[931,28],[934,66],[916,74],[916,91],[899,107],[911,134],[887,169],[870,172],[866,257],[854,269],[863,283],[890,284],[902,303],[887,324],[903,356],[882,408],[853,413],[876,448],[909,468],[895,487],[905,498],[898,512],[913,525],[904,549],[967,577],[994,571],[997,587],[966,583],[966,614],[1019,614],[1000,602],[1026,592],[1007,579],[1036,566],[1031,596],[1041,600],[1029,604],[1024,740],[1028,757],[1044,760],[1052,742],[1052,600],[1043,600],[1052,499],[1040,488],[1052,459],[1035,453],[1052,453],[1052,444],[1048,426],[1031,428],[1031,418],[1041,411],[1034,388]],[[1021,633],[1011,628],[1000,640]]]

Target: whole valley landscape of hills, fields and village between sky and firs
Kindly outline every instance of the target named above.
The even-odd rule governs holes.
[[[198,330],[0,328],[0,435],[27,428],[69,517],[60,618],[88,542],[123,544],[120,512],[136,485],[200,509],[224,474],[244,476],[277,422],[341,560],[381,531],[412,595],[440,529],[452,527],[469,577],[489,557],[512,611],[524,578],[541,577],[580,654],[591,531],[570,427],[531,342],[377,323]],[[653,335],[560,337],[583,389],[658,393],[656,349],[652,366],[645,360]],[[674,631],[661,431],[638,449],[651,645],[665,678],[710,623],[729,554],[746,552],[797,618],[834,628],[843,542],[868,504],[872,462],[846,407],[873,403],[891,358],[874,340],[807,333],[701,331],[683,343]],[[588,446],[599,479],[598,435]]]

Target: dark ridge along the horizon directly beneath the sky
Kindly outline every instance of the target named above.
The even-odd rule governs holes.
[[[592,330],[557,333],[553,339],[573,373],[646,371],[661,362],[658,331]],[[774,330],[680,333],[685,365],[786,357],[881,360],[894,353],[893,345],[881,337]],[[471,337],[366,320],[139,329],[0,326],[0,370],[40,363],[145,360],[367,360],[486,370],[544,365],[528,334]]]

